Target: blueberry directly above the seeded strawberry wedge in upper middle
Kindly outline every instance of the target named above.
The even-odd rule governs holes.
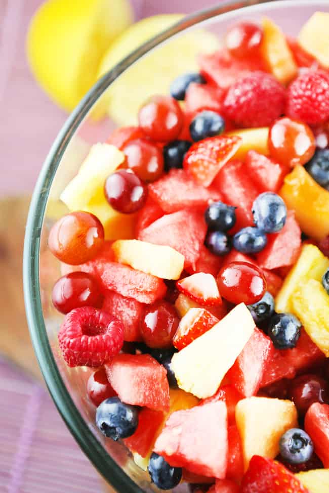
[[[190,123],[190,135],[195,142],[220,135],[224,130],[224,118],[215,111],[201,111]]]

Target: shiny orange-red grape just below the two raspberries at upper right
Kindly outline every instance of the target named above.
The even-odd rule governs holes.
[[[315,152],[315,139],[306,123],[280,118],[270,127],[268,147],[273,159],[285,166],[307,163]]]

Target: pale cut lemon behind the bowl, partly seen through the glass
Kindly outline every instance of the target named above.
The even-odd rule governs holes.
[[[158,15],[131,26],[113,42],[104,55],[99,67],[99,77],[142,43],[182,17],[181,14]],[[198,71],[196,57],[199,53],[211,53],[218,47],[217,36],[205,30],[190,31],[174,37],[122,73],[102,96],[101,107],[108,107],[108,114],[116,124],[135,124],[138,110],[149,96],[168,94],[175,77],[185,72]],[[98,116],[100,113],[101,111]]]

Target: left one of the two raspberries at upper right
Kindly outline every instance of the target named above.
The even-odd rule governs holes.
[[[239,78],[231,85],[223,110],[236,125],[260,127],[278,118],[284,105],[284,87],[272,75],[258,71]]]

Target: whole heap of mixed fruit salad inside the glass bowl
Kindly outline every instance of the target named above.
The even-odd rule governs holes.
[[[159,488],[328,485],[323,22],[298,40],[269,19],[233,26],[62,192],[71,212],[49,235],[59,346],[68,366],[95,369],[97,427]]]

